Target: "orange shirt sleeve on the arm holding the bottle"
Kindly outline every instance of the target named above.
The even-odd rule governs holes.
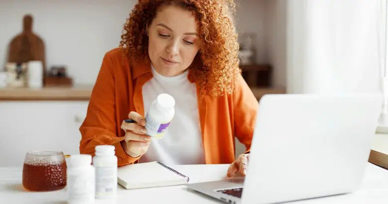
[[[80,153],[94,156],[97,145],[114,145],[118,166],[131,164],[139,158],[128,156],[120,142],[124,137],[117,136],[115,115],[114,64],[109,53],[105,54],[95,87],[89,102],[88,111],[80,127],[82,139]]]

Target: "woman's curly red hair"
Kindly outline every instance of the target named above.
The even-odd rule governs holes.
[[[234,91],[240,74],[237,33],[232,17],[233,0],[139,0],[124,25],[120,47],[135,60],[149,60],[147,25],[162,5],[177,5],[192,11],[198,23],[200,50],[190,66],[189,79],[201,94],[219,96]]]

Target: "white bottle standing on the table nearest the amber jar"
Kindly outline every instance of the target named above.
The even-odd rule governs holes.
[[[95,169],[89,154],[72,155],[67,170],[68,204],[95,203]]]

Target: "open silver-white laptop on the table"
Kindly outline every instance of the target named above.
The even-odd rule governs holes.
[[[271,204],[359,189],[382,95],[265,95],[259,104],[245,181],[189,190],[229,204]]]

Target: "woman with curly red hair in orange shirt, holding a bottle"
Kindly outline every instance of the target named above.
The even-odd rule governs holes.
[[[106,53],[80,127],[80,152],[114,145],[118,166],[231,163],[245,175],[258,102],[238,67],[232,0],[139,0],[120,48]],[[161,93],[175,116],[160,140],[146,135],[145,111]],[[123,122],[133,119],[136,123]],[[234,161],[234,136],[247,152]]]

